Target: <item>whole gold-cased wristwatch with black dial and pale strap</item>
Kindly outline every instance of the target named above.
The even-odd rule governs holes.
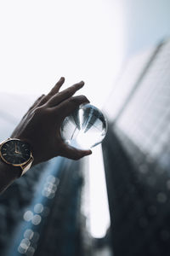
[[[20,176],[30,169],[34,160],[29,143],[16,138],[8,138],[0,144],[0,157],[8,165],[20,166]]]

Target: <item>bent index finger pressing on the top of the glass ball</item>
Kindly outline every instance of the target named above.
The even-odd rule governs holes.
[[[54,112],[58,113],[58,120],[62,122],[66,116],[70,115],[80,105],[89,103],[86,96],[72,96],[71,98],[61,102],[59,106],[54,108]]]

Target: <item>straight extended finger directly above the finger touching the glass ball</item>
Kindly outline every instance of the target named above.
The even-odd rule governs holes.
[[[60,102],[63,102],[66,99],[70,98],[77,92],[77,90],[80,90],[83,85],[84,85],[83,81],[80,83],[77,83],[77,84],[73,84],[71,87],[67,88],[66,90],[59,92],[59,94],[57,94],[57,95],[54,95],[48,101],[48,107],[52,108],[52,107],[58,105]]]

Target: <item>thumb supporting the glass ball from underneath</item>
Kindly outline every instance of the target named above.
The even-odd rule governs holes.
[[[63,148],[63,154],[61,154],[61,156],[67,157],[72,160],[79,160],[89,154],[92,154],[91,150],[80,150],[65,144]]]

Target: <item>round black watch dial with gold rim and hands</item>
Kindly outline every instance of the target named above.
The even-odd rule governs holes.
[[[13,165],[20,165],[30,159],[31,148],[28,143],[20,140],[9,140],[1,147],[3,160]]]

